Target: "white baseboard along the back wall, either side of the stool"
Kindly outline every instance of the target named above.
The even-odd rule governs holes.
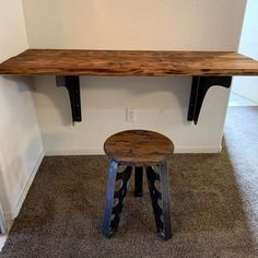
[[[221,145],[215,146],[176,146],[175,153],[220,153]],[[68,155],[103,155],[101,149],[71,149],[71,150],[46,150],[45,156],[68,156]]]

